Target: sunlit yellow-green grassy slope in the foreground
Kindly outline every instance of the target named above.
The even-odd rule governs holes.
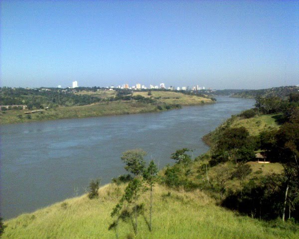
[[[113,239],[115,232],[108,231],[112,223],[110,213],[123,190],[124,186],[109,184],[100,188],[99,199],[90,200],[83,195],[23,214],[5,222],[3,239]],[[144,194],[142,201],[148,205],[149,193]],[[137,239],[295,239],[299,236],[217,207],[213,199],[198,190],[186,193],[155,186],[152,232],[147,218],[148,212],[139,217]],[[132,224],[120,224],[121,239],[132,232]]]

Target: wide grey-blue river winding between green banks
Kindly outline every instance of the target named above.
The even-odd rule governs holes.
[[[183,147],[196,157],[208,150],[204,134],[253,105],[218,97],[161,113],[1,125],[0,214],[6,220],[83,194],[91,179],[111,182],[126,173],[120,157],[128,149],[144,149],[159,169]]]

